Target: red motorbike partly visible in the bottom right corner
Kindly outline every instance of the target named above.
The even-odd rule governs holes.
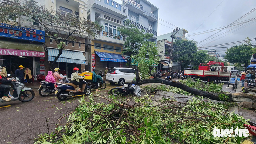
[[[248,129],[249,134],[252,135],[250,140],[244,140],[241,144],[255,144],[256,143],[256,123],[248,121],[248,124],[243,124],[246,129]]]

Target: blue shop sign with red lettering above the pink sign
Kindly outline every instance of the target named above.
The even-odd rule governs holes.
[[[45,42],[45,31],[0,23],[0,37]]]

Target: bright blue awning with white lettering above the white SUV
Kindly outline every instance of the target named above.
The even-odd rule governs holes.
[[[100,57],[100,61],[109,61],[109,62],[127,62],[124,57],[120,54],[107,53],[107,52],[98,52],[95,53]]]

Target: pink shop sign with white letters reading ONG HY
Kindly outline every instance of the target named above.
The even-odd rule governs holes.
[[[18,50],[18,49],[3,49],[3,48],[0,48],[0,55],[45,57],[45,52],[36,52],[36,51],[31,51],[31,50]]]

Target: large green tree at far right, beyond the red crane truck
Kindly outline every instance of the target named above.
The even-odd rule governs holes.
[[[225,59],[231,63],[239,63],[248,66],[250,64],[254,48],[251,46],[250,40],[246,39],[245,41],[246,44],[228,48],[227,52],[225,52],[227,54]]]

